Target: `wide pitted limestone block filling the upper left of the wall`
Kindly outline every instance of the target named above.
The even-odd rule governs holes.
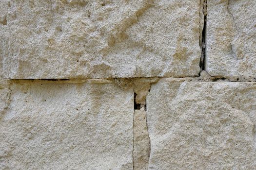
[[[3,76],[196,76],[199,1],[3,0]]]

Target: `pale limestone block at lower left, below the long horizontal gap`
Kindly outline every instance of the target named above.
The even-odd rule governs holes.
[[[0,120],[1,170],[132,170],[133,90],[19,82]]]

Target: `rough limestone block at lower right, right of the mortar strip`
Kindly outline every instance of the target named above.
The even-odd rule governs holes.
[[[149,170],[255,170],[256,83],[152,85]]]

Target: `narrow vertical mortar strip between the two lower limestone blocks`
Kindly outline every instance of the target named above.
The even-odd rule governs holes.
[[[146,120],[145,107],[134,110],[134,170],[147,170],[150,154],[150,139]]]

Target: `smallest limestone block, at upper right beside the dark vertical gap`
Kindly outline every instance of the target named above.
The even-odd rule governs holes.
[[[256,75],[256,0],[207,0],[210,75]]]

